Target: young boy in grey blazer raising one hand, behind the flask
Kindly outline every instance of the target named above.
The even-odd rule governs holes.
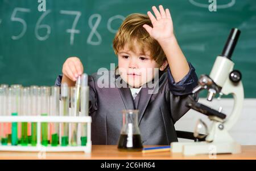
[[[163,6],[152,10],[155,16],[150,11],[148,16],[127,16],[113,41],[118,70],[108,72],[109,84],[124,81],[129,87],[102,88],[97,73],[88,78],[93,144],[117,144],[122,110],[138,109],[143,145],[170,145],[177,141],[175,122],[189,110],[185,103],[197,100],[191,93],[197,85],[195,69],[177,44],[170,11]],[[74,86],[82,72],[80,59],[68,58],[56,85]],[[150,82],[158,86],[152,88]]]

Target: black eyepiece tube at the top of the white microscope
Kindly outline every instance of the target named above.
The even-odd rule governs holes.
[[[232,28],[232,30],[229,33],[228,40],[226,41],[226,44],[224,46],[224,49],[222,50],[221,56],[226,57],[230,59],[232,57],[232,53],[234,51],[234,48],[236,47],[237,40],[240,36],[241,31],[237,28]]]

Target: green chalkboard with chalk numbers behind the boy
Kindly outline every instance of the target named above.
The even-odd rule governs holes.
[[[196,72],[209,74],[229,31],[241,29],[233,54],[243,74],[245,97],[256,97],[256,1],[217,0],[0,0],[0,84],[54,84],[67,57],[77,56],[85,72],[117,64],[112,41],[129,14],[146,14],[152,5],[171,10],[175,35]]]

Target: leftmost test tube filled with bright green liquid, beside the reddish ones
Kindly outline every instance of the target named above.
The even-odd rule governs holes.
[[[11,116],[18,116],[20,112],[20,91],[22,86],[15,84],[11,86]],[[17,146],[19,142],[18,138],[18,123],[11,123],[11,145]]]

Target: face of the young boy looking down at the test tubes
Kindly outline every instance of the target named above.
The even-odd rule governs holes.
[[[143,84],[150,82],[159,71],[159,65],[151,59],[150,52],[144,50],[145,54],[139,50],[137,42],[133,44],[134,51],[125,45],[118,52],[118,69],[121,78],[134,88],[139,88]]]

